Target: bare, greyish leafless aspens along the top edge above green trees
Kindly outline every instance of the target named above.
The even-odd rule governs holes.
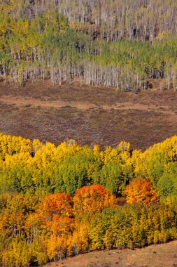
[[[64,15],[69,25],[92,39],[107,41],[139,39],[153,41],[176,34],[177,4],[174,0],[20,0],[1,1],[3,11],[31,20],[46,11]],[[50,17],[48,17],[50,18]]]

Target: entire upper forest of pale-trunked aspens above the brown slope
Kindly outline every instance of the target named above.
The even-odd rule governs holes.
[[[3,0],[1,79],[148,89],[177,87],[174,0]]]

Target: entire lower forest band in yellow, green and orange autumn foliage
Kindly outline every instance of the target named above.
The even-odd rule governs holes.
[[[177,136],[145,152],[0,135],[1,266],[177,238]]]

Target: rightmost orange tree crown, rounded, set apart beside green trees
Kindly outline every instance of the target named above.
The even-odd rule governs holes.
[[[145,203],[150,204],[158,201],[158,196],[155,190],[151,187],[147,179],[137,178],[127,185],[125,189],[127,195],[127,203]]]

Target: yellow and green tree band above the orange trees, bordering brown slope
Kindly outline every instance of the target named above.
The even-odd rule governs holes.
[[[161,202],[176,204],[176,160],[177,136],[141,152],[132,151],[125,141],[101,151],[99,145],[92,149],[73,140],[56,147],[1,133],[0,193],[33,194],[41,200],[48,193],[73,196],[83,186],[100,184],[113,195],[124,197],[130,181],[134,186],[135,179],[142,188],[143,182],[137,183],[137,178],[143,178],[157,190]]]

